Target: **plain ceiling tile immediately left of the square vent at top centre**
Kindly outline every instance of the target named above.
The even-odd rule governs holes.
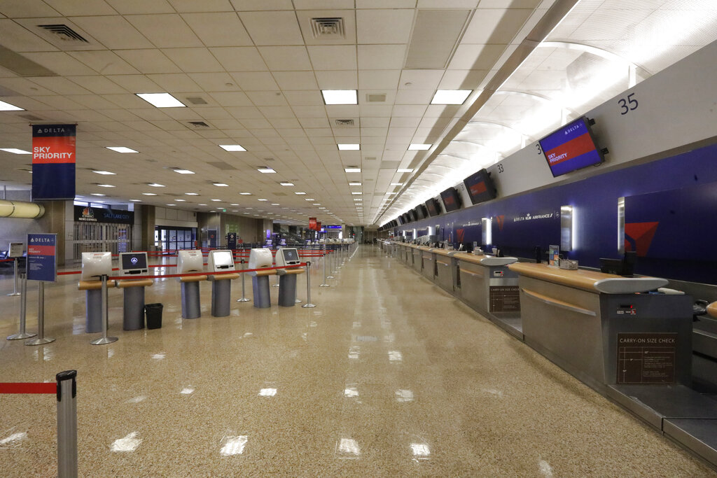
[[[242,11],[239,18],[257,47],[304,44],[293,11]]]

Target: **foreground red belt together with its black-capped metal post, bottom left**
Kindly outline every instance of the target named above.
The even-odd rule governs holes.
[[[0,383],[0,393],[47,393],[57,398],[57,476],[77,477],[77,371],[55,376],[57,383]]]

